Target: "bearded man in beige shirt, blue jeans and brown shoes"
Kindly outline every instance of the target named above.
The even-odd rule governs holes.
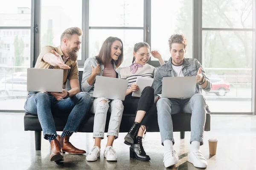
[[[48,139],[51,144],[50,161],[63,161],[65,152],[70,154],[86,153],[85,150],[79,150],[69,142],[70,136],[77,132],[91,104],[90,95],[80,92],[79,87],[76,59],[81,45],[81,36],[80,28],[67,28],[61,34],[60,46],[42,48],[35,68],[64,69],[63,89],[61,93],[29,92],[24,106],[26,112],[38,115],[44,139]],[[64,89],[67,79],[70,81],[70,91]],[[56,133],[52,111],[57,114],[69,114],[61,136]]]

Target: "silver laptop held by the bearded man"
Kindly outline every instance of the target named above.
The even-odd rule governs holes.
[[[27,91],[62,92],[63,69],[27,69]]]

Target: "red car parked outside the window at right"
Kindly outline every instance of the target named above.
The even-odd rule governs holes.
[[[230,84],[224,79],[209,78],[212,82],[212,89],[208,93],[215,93],[217,96],[225,96],[230,91]]]

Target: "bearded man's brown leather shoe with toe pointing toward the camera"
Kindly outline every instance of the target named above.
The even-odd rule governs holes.
[[[58,142],[58,140],[53,139],[50,143],[51,143],[51,150],[52,150],[52,153],[50,155],[50,161],[55,161],[55,162],[64,161],[61,145]]]

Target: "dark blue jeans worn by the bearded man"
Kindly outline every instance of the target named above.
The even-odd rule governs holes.
[[[70,113],[64,129],[77,132],[91,102],[90,95],[85,92],[59,101],[46,92],[38,92],[28,94],[24,109],[28,113],[38,115],[45,138],[46,134],[57,136],[52,111],[58,114]]]

